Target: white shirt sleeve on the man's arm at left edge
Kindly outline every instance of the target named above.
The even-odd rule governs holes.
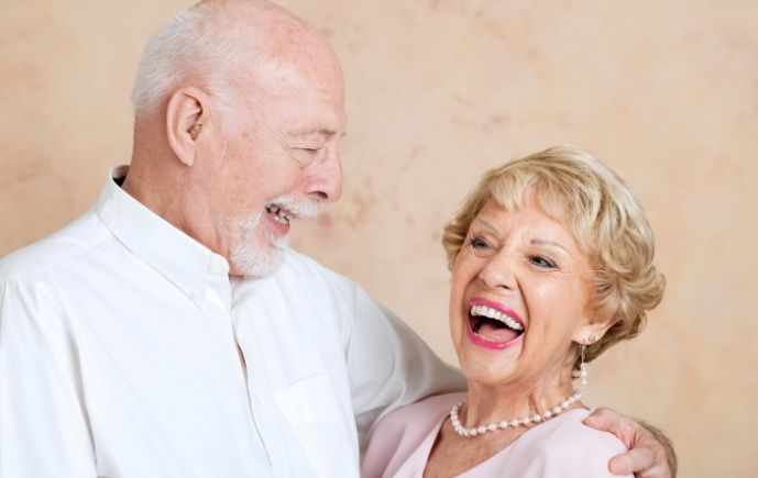
[[[77,349],[61,305],[0,278],[0,476],[96,476]]]

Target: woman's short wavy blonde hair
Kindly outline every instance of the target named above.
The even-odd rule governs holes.
[[[572,231],[594,266],[595,320],[614,323],[587,345],[585,360],[641,332],[666,279],[652,265],[652,230],[629,187],[586,153],[551,147],[487,171],[446,225],[442,245],[452,269],[482,208],[494,201],[506,211],[534,203]]]

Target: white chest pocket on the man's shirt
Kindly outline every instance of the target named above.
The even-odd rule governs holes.
[[[359,476],[354,420],[345,416],[326,374],[299,380],[274,397],[317,476]]]

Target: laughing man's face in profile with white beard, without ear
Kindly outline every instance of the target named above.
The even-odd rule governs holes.
[[[316,55],[318,66],[314,58],[267,64],[234,107],[218,189],[234,273],[273,273],[290,219],[314,216],[321,201],[340,197],[342,74],[330,51]]]

